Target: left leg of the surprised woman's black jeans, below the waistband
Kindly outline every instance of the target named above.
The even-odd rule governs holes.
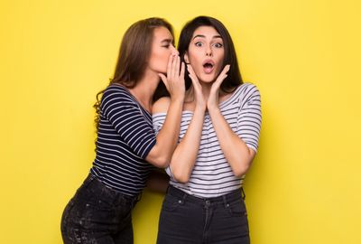
[[[202,207],[167,194],[158,227],[158,244],[201,243],[204,227]]]

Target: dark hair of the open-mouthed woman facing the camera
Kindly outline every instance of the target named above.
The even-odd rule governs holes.
[[[225,93],[230,93],[234,91],[236,87],[243,84],[243,80],[238,67],[235,45],[233,44],[232,38],[228,33],[226,26],[217,19],[209,16],[198,16],[184,25],[180,32],[180,41],[178,43],[180,61],[184,61],[184,54],[188,52],[193,33],[200,26],[212,26],[222,37],[225,49],[225,57],[223,59],[222,67],[230,64],[230,70],[227,72],[227,78],[222,82],[220,89]],[[189,89],[191,85],[191,80],[187,69],[184,79],[186,83],[186,89]],[[160,82],[157,90],[155,91],[153,99],[160,99],[164,96],[169,96],[169,93],[165,89],[165,86],[162,84],[162,82]]]

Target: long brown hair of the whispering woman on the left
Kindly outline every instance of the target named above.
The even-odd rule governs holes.
[[[108,86],[120,84],[126,88],[134,88],[138,80],[142,79],[152,51],[153,31],[158,27],[167,28],[173,35],[171,23],[162,18],[144,19],[133,23],[126,30],[120,45],[114,78],[110,80]],[[100,120],[101,95],[105,90],[97,93],[97,102],[93,106],[97,112],[95,118],[97,129]]]

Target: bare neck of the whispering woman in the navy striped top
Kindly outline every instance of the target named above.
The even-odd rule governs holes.
[[[158,74],[146,70],[143,78],[138,80],[133,89],[129,89],[132,95],[147,111],[151,112],[153,107],[153,95],[159,83]]]

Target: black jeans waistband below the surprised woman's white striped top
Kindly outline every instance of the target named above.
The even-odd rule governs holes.
[[[245,200],[245,192],[244,192],[242,187],[235,190],[235,191],[228,192],[228,193],[226,193],[224,195],[221,195],[221,196],[218,196],[218,197],[209,197],[209,198],[201,198],[201,197],[197,197],[197,196],[194,196],[194,195],[190,195],[189,193],[183,192],[180,189],[178,189],[177,187],[174,187],[172,185],[170,185],[168,187],[167,193],[172,195],[172,196],[175,196],[177,198],[180,198],[181,200],[196,202],[196,203],[199,203],[199,204],[232,202],[232,201],[236,201],[238,199]]]

